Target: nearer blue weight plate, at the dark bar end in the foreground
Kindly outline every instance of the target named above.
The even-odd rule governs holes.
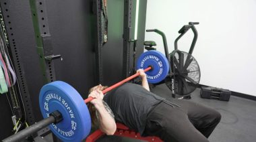
[[[44,118],[59,111],[63,121],[50,125],[51,131],[62,141],[82,141],[90,133],[91,118],[84,99],[62,81],[44,85],[39,96],[40,111]]]

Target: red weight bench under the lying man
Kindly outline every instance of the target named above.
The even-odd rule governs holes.
[[[98,129],[86,138],[86,142],[94,142],[100,137],[102,137],[102,135],[105,135],[105,134],[102,131],[100,131],[100,129]],[[114,135],[121,136],[121,137],[130,137],[132,139],[140,139],[143,141],[162,142],[162,140],[158,137],[141,137],[139,133],[133,130],[129,130],[128,127],[126,127],[121,123],[117,123],[117,131],[115,131]]]

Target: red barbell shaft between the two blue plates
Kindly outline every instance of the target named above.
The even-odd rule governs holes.
[[[144,72],[148,72],[148,70],[151,70],[152,67],[149,66],[148,68],[146,68],[145,70],[143,70]],[[122,80],[121,82],[117,82],[116,84],[114,84],[113,86],[110,86],[104,90],[102,90],[103,94],[106,94],[106,92],[113,90],[113,88],[117,88],[118,86],[120,86],[121,84],[124,84],[125,82],[128,82],[129,80],[132,80],[133,78],[136,78],[137,76],[139,76],[139,72],[137,72],[136,74],[133,74],[132,76],[129,76],[128,78],[125,78],[124,80]],[[93,100],[94,98],[92,98],[91,96],[89,98],[86,98],[86,100],[84,100],[84,102],[88,103],[91,100]]]

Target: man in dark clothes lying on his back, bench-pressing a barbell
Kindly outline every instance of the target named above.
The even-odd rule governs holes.
[[[111,126],[103,129],[104,133],[115,131],[113,123],[117,121],[139,132],[141,136],[157,136],[163,141],[208,141],[207,137],[220,122],[220,113],[189,100],[166,100],[157,96],[150,92],[143,70],[137,72],[142,79],[142,87],[137,84],[123,84],[105,94],[104,98],[100,91],[104,89],[102,86],[92,89],[98,96],[92,93],[89,96],[102,104],[106,102],[110,108],[107,105],[102,106],[100,109],[108,110],[109,113],[101,114],[95,106],[96,114],[112,119],[98,119],[100,128]],[[114,117],[110,117],[112,111],[109,110],[113,111],[115,121]],[[106,126],[104,121],[108,121]]]

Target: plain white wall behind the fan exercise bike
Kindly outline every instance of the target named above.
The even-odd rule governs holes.
[[[255,0],[148,0],[146,29],[166,34],[169,52],[178,31],[189,21],[199,21],[193,56],[201,69],[200,84],[256,96],[256,1]],[[178,43],[189,52],[193,32]],[[146,33],[164,53],[162,38]]]

